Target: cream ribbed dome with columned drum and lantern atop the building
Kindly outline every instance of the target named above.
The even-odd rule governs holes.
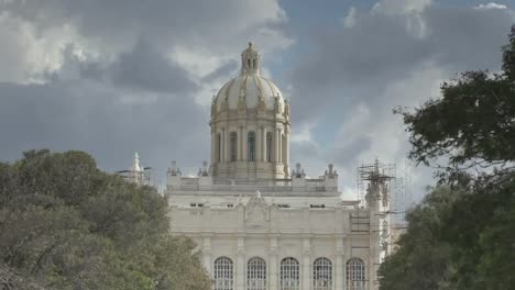
[[[289,167],[289,104],[260,76],[260,55],[249,44],[240,76],[211,104],[211,172],[227,178],[285,178]]]

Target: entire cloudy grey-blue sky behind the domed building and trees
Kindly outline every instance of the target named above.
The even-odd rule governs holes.
[[[396,105],[438,98],[467,69],[500,69],[515,2],[476,0],[0,0],[0,160],[81,149],[113,171],[138,150],[209,159],[212,94],[252,41],[292,103],[292,164],[333,163],[342,191],[375,157],[403,175]],[[431,183],[412,168],[414,199]]]

